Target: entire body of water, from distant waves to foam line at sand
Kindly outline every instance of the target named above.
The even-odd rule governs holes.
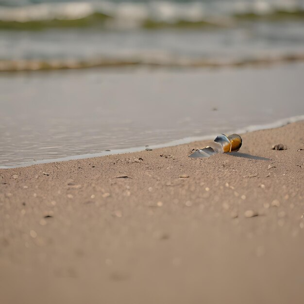
[[[304,114],[303,61],[304,0],[0,0],[0,166]]]

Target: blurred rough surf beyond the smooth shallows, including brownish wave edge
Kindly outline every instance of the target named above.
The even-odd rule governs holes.
[[[0,0],[0,71],[304,60],[304,0]]]

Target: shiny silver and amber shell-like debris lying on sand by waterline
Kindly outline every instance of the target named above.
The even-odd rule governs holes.
[[[242,138],[240,135],[232,134],[226,136],[221,134],[217,136],[214,141],[210,142],[208,146],[193,152],[189,157],[200,158],[210,157],[218,153],[236,152],[242,146]]]

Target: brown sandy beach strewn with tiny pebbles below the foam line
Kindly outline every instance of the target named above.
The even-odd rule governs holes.
[[[0,303],[302,304],[304,121],[242,137],[1,169]]]

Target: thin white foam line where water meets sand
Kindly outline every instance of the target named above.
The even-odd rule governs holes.
[[[227,134],[243,134],[247,132],[253,132],[253,131],[260,131],[260,130],[267,130],[267,129],[273,129],[273,128],[279,128],[283,127],[289,123],[294,123],[304,120],[304,115],[298,115],[293,116],[289,118],[283,118],[276,120],[271,123],[267,124],[260,124],[260,125],[250,125],[245,128],[236,129],[227,132]],[[193,142],[197,141],[205,141],[205,140],[213,140],[218,134],[213,135],[203,135],[203,136],[192,136],[192,137],[186,137],[183,139],[176,139],[172,140],[163,144],[156,144],[156,145],[149,145],[148,147],[150,149],[160,149],[160,148],[169,148],[174,147],[178,145],[184,145],[184,144],[191,144]],[[24,168],[39,164],[49,164],[49,163],[55,163],[55,162],[62,162],[62,161],[69,161],[69,160],[80,160],[80,159],[89,159],[94,157],[101,157],[101,156],[107,156],[107,155],[119,155],[119,154],[125,154],[125,153],[134,153],[134,152],[142,152],[146,150],[145,147],[131,147],[126,149],[116,149],[111,151],[102,151],[99,153],[89,153],[89,154],[81,154],[81,155],[72,155],[67,157],[61,157],[61,158],[53,158],[53,159],[44,159],[44,160],[38,160],[38,161],[31,161],[31,162],[25,162],[19,165],[12,165],[12,166],[0,166],[0,169],[15,169],[15,168]]]

